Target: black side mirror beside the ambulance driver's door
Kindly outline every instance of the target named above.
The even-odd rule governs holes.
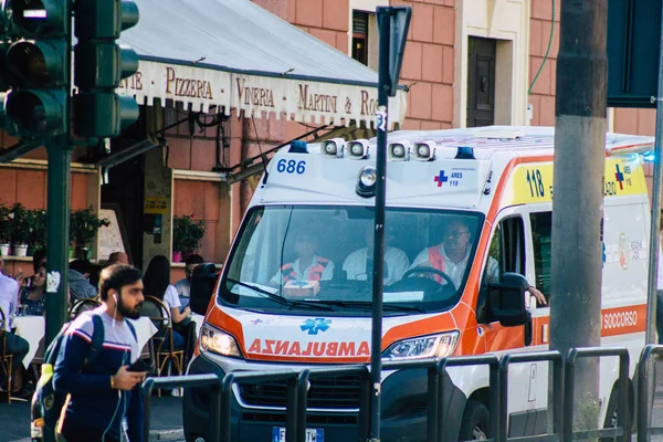
[[[504,327],[525,325],[532,313],[525,304],[525,292],[529,284],[518,273],[505,272],[499,282],[488,283],[488,308],[492,320]]]

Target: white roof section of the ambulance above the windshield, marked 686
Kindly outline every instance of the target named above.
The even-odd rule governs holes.
[[[552,127],[514,126],[391,133],[388,144],[409,146],[398,149],[398,156],[396,148],[389,149],[387,204],[487,210],[495,196],[492,190],[509,161],[517,157],[551,161],[554,135]],[[357,186],[362,169],[376,166],[377,139],[354,141],[362,147],[355,149],[356,145],[336,139],[334,143],[345,147],[293,143],[282,148],[270,161],[269,177],[256,189],[252,203],[366,204],[370,200],[358,193]],[[432,149],[415,148],[419,143],[428,143]],[[653,137],[606,137],[608,157],[633,159],[652,151],[653,145]],[[550,177],[551,171],[549,165]],[[520,177],[518,182],[527,181]]]

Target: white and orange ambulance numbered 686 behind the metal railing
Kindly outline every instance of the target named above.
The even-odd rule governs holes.
[[[601,345],[629,349],[631,379],[646,323],[653,143],[606,141]],[[383,360],[548,348],[550,309],[526,291],[550,296],[552,156],[554,128],[389,134]],[[369,364],[375,183],[376,139],[293,143],[273,157],[213,290],[191,294],[206,317],[189,375]],[[446,440],[493,436],[487,368],[448,372]],[[614,424],[617,373],[602,358],[599,425]],[[547,362],[514,365],[508,386],[508,435],[545,433]],[[385,371],[381,393],[381,439],[425,441],[425,371]],[[209,394],[185,391],[187,441],[218,419]],[[234,386],[233,440],[283,441],[285,406],[284,383]],[[312,380],[307,441],[357,440],[358,406],[356,377]]]

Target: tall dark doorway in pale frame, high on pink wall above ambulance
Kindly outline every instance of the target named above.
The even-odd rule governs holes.
[[[470,36],[467,48],[467,127],[490,126],[495,123],[497,42]]]

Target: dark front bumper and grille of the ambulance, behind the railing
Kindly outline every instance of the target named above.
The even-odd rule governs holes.
[[[223,376],[229,366],[241,364],[243,370],[261,370],[287,368],[291,366],[248,364],[238,359],[222,358],[217,355],[202,355],[189,365],[189,375],[217,373]],[[463,410],[465,394],[459,390],[446,377],[445,417],[441,422],[441,431],[445,441],[456,441]],[[351,379],[335,379],[333,388],[329,387],[325,394],[317,394],[315,389],[325,385],[314,386],[309,390],[309,410],[307,412],[307,428],[319,429],[324,432],[322,442],[347,442],[357,440],[357,407]],[[332,386],[332,383],[329,383]],[[358,390],[358,389],[357,389]],[[337,392],[336,396],[333,393]],[[427,440],[427,410],[428,410],[428,378],[423,369],[396,371],[382,380],[381,424],[380,439],[385,442],[425,442]],[[285,386],[235,388],[232,397],[231,409],[231,438],[243,441],[272,441],[275,428],[285,427]],[[358,392],[358,391],[357,391]],[[325,398],[325,399],[322,399]],[[210,389],[185,389],[183,397],[183,425],[187,441],[197,438],[208,439],[210,422]],[[219,417],[215,417],[219,419]],[[320,441],[317,441],[320,442]]]

